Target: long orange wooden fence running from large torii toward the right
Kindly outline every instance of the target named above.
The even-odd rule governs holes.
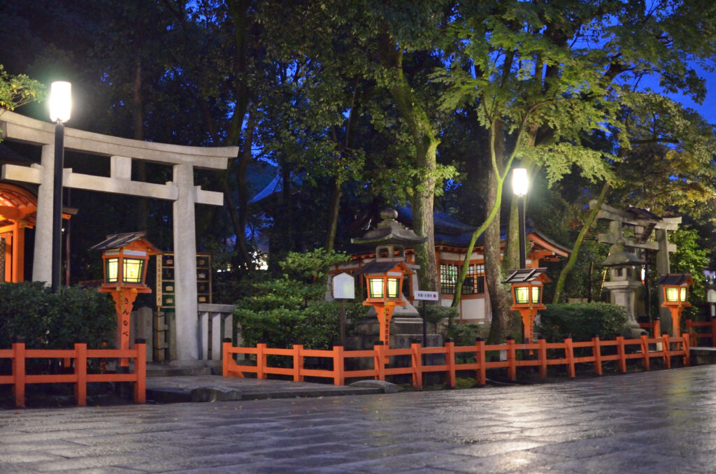
[[[613,347],[613,351],[603,354],[604,347]],[[591,352],[590,355],[576,357],[574,349],[587,349],[581,352]],[[550,354],[548,350],[552,349]],[[591,349],[591,350],[590,350]],[[489,360],[488,353],[498,354],[504,351],[504,360]],[[529,354],[518,359],[519,354]],[[562,357],[548,357],[554,352],[563,354]],[[614,353],[616,352],[616,353]],[[233,354],[251,354],[256,356],[256,365],[237,364]],[[443,354],[442,364],[423,364],[423,356],[428,354]],[[469,354],[475,362],[458,362],[456,354]],[[291,367],[271,367],[267,363],[267,356],[279,355],[291,357]],[[385,363],[390,357],[409,356],[410,367],[390,367]],[[332,359],[333,369],[306,369],[305,357],[325,357]],[[639,359],[644,369],[649,370],[651,359],[661,359],[666,367],[671,368],[672,357],[682,357],[684,365],[689,364],[689,337],[648,337],[644,335],[639,339],[624,339],[601,341],[598,337],[589,342],[573,342],[564,339],[564,342],[548,343],[544,339],[533,344],[515,344],[508,340],[506,344],[485,344],[478,340],[473,346],[455,346],[454,342],[446,342],[444,347],[421,347],[412,344],[407,349],[387,349],[383,345],[376,345],[373,349],[362,351],[345,351],[343,347],[336,346],[333,350],[304,349],[296,344],[292,349],[273,349],[266,344],[257,344],[256,347],[233,347],[231,342],[223,343],[223,375],[224,377],[243,377],[243,374],[256,374],[258,379],[265,379],[269,374],[281,374],[293,377],[294,381],[302,382],[305,377],[326,377],[333,379],[336,385],[342,385],[347,378],[372,378],[384,380],[388,375],[410,374],[412,384],[422,388],[422,376],[428,372],[443,372],[447,374],[448,386],[455,387],[455,378],[458,371],[475,372],[479,384],[485,384],[487,369],[507,369],[511,380],[517,379],[518,367],[536,367],[539,376],[547,376],[547,367],[563,365],[569,377],[575,377],[575,364],[593,364],[594,372],[602,374],[604,362],[616,361],[621,372],[627,372],[627,360]],[[346,359],[368,358],[373,361],[372,369],[346,370]],[[407,359],[407,357],[404,357]],[[394,359],[395,361],[395,359]]]

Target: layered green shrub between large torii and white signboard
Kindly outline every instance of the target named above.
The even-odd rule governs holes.
[[[321,248],[289,253],[279,262],[286,273],[253,284],[253,294],[236,302],[236,324],[244,344],[266,342],[269,347],[302,343],[329,349],[339,342],[339,309],[324,301],[329,266],[345,261],[344,253]]]

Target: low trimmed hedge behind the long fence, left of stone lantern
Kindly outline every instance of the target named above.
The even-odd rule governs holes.
[[[548,304],[539,315],[535,334],[548,342],[562,342],[567,337],[575,342],[589,341],[594,336],[614,339],[629,334],[627,312],[608,303]]]

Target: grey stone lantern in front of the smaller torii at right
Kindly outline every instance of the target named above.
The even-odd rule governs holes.
[[[635,268],[642,265],[644,262],[639,257],[627,251],[623,239],[619,239],[609,248],[609,256],[601,262],[601,266],[609,268],[609,281],[604,282],[604,289],[609,291],[612,304],[627,309],[629,327],[634,335],[644,332],[639,327],[634,309],[637,291],[643,286],[641,274],[635,271]]]

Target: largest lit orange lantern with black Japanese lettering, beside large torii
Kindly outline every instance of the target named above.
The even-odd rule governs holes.
[[[139,293],[151,293],[145,285],[147,261],[161,253],[145,238],[143,232],[117,233],[97,243],[92,250],[102,251],[105,278],[102,293],[111,293],[117,310],[117,349],[130,348],[130,314]],[[129,359],[122,357],[120,366],[127,367]]]

